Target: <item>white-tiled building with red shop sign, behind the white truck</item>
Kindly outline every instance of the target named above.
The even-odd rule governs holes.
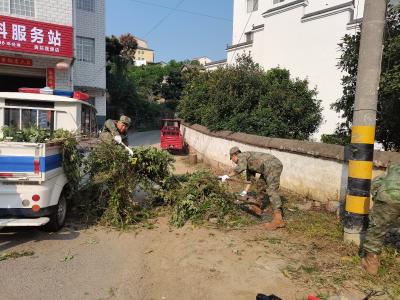
[[[104,0],[0,0],[0,91],[89,93],[106,115]]]

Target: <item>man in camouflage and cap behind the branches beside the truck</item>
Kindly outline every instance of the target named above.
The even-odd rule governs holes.
[[[115,141],[117,144],[124,143],[128,146],[128,128],[131,125],[131,119],[127,116],[121,116],[119,121],[107,120],[101,130],[100,139],[104,142]]]

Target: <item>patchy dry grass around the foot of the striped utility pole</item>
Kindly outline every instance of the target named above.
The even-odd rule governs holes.
[[[371,291],[383,291],[382,299],[400,299],[400,253],[386,247],[381,256],[377,276],[361,268],[359,247],[343,242],[343,227],[335,215],[320,211],[287,211],[287,231],[298,254],[282,272],[285,276],[324,295],[340,293],[353,286],[366,296]],[[282,241],[284,245],[286,241]],[[302,247],[306,245],[306,247]],[[326,292],[325,292],[326,291]],[[385,298],[386,297],[386,298]]]

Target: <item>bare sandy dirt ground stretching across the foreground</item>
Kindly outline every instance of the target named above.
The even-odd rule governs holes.
[[[159,218],[152,230],[103,228],[58,234],[22,230],[1,234],[2,251],[33,256],[1,262],[2,299],[255,299],[258,292],[297,299],[304,289],[279,271],[286,262],[264,245],[249,246],[246,231],[171,230]]]

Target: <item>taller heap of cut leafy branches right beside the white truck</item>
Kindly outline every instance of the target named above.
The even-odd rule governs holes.
[[[133,148],[133,156],[111,143],[100,143],[85,165],[89,176],[81,208],[104,225],[125,228],[151,216],[153,199],[164,186],[172,157],[155,148]],[[146,196],[138,199],[140,190]]]

